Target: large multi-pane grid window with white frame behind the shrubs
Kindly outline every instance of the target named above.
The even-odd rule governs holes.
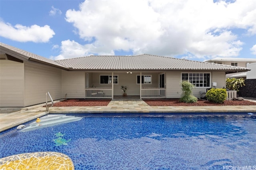
[[[210,73],[182,73],[182,80],[188,80],[196,87],[210,87]]]

